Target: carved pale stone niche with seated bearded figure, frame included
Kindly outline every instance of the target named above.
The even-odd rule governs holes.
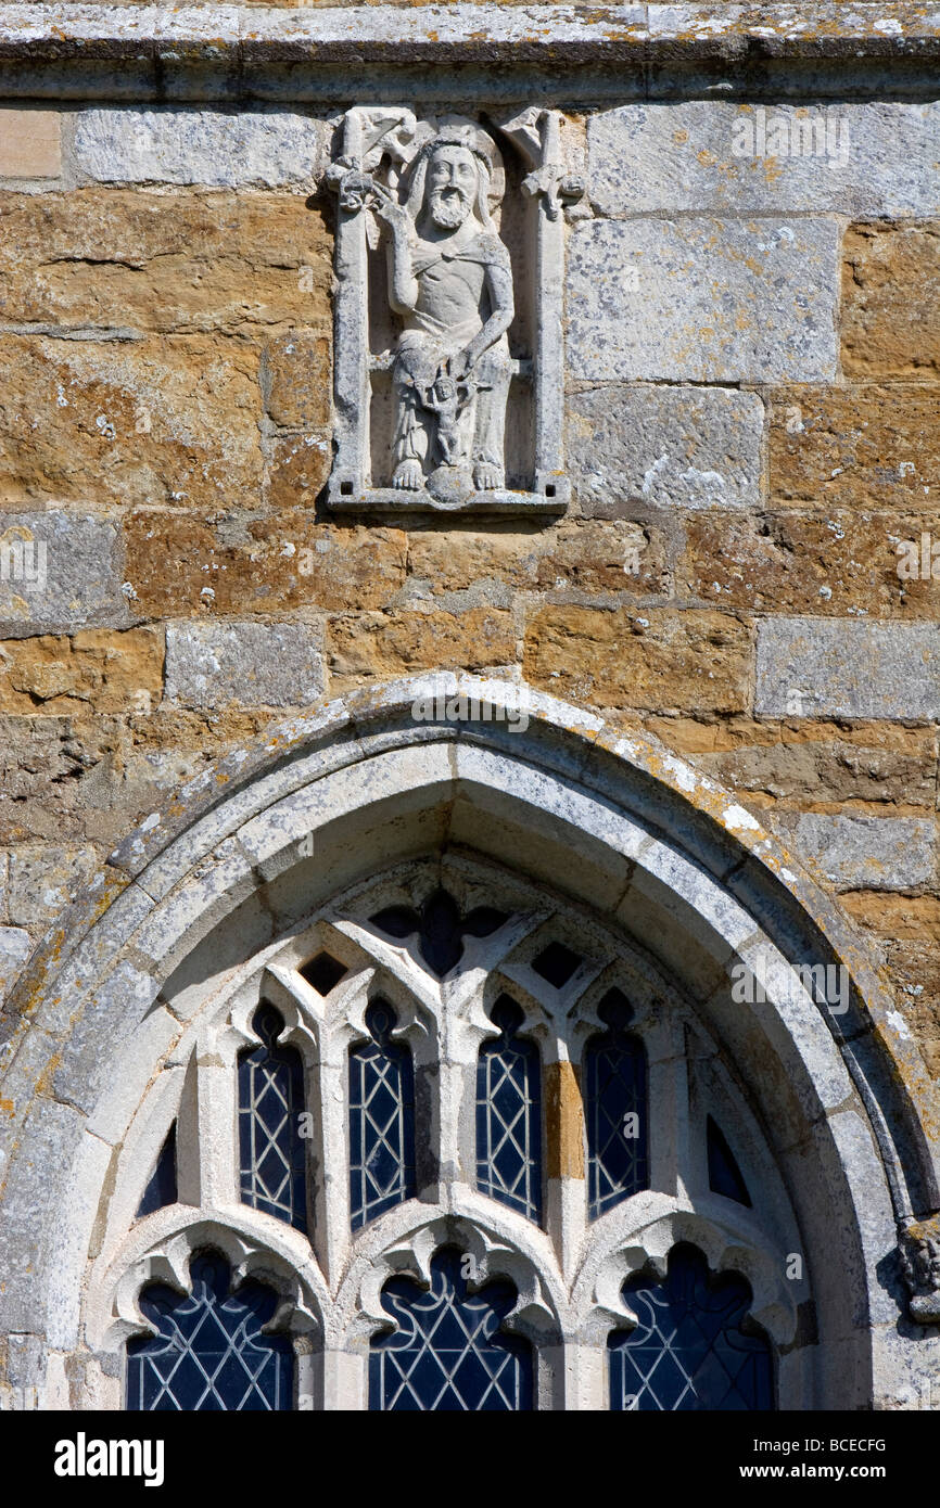
[[[564,127],[539,107],[346,115],[330,508],[564,511],[564,234],[582,196]]]

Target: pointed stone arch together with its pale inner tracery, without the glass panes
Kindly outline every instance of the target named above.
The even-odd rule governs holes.
[[[468,707],[486,710],[468,718]],[[140,1333],[142,1288],[164,1280],[183,1291],[192,1256],[213,1249],[235,1277],[279,1294],[300,1395],[343,1407],[350,1387],[361,1395],[370,1338],[388,1323],[383,1280],[427,1276],[435,1249],[454,1241],[475,1253],[481,1280],[515,1285],[507,1326],[546,1353],[567,1348],[567,1381],[542,1407],[604,1405],[597,1354],[611,1327],[631,1321],[625,1279],[665,1277],[683,1241],[750,1285],[786,1405],[904,1401],[905,1360],[938,1345],[916,1323],[937,1310],[916,1243],[940,1203],[938,1149],[919,1056],[865,949],[714,781],[552,698],[527,692],[525,719],[518,707],[516,686],[436,676],[288,724],[148,817],[47,936],[8,1006],[0,1241],[11,1277],[0,1312],[6,1330],[41,1338],[50,1405],[119,1407],[119,1354]],[[688,1196],[708,1179],[691,1143],[670,1154],[668,1197],[653,1151],[652,1190],[634,1196],[647,1200],[640,1215],[629,1231],[604,1215],[573,1265],[546,1258],[551,1240],[564,1249],[563,1215],[554,1237],[551,1208],[548,1235],[527,1232],[472,1193],[450,1212],[401,1203],[365,1226],[355,1249],[314,1240],[303,1253],[300,1232],[269,1223],[260,1234],[255,1212],[231,1203],[234,1140],[199,1155],[199,1139],[204,1123],[225,1123],[213,1114],[228,1114],[238,1054],[253,1041],[258,980],[285,1019],[282,1041],[308,1063],[314,1107],[320,995],[299,971],[323,927],[346,938],[353,961],[368,956],[418,1063],[436,1009],[419,938],[383,935],[368,917],[380,909],[376,885],[385,905],[419,900],[427,885],[409,890],[407,876],[439,879],[442,866],[468,903],[499,891],[508,920],[498,949],[471,941],[469,965],[515,983],[536,1039],[551,1036],[537,968],[546,918],[552,941],[581,961],[555,991],[570,1007],[570,1027],[555,1034],[564,1051],[543,1047],[558,1068],[557,1099],[567,1081],[560,1065],[602,1028],[591,989],[608,980],[614,953],[617,977],[646,992],[653,1036],[665,1030],[655,1000],[668,1003],[683,1041],[700,1027],[682,1125],[714,1116],[724,1133],[742,1128],[735,1154],[745,1182],[779,1190],[763,1235],[733,1200]],[[373,909],[358,914],[356,897]],[[842,994],[839,1009],[813,998],[807,970],[819,967],[846,971],[845,1009]],[[736,980],[751,1000],[735,998]],[[481,985],[480,1019],[466,1006],[474,1053],[492,1033],[484,1000]],[[368,991],[350,985],[336,1018],[344,1065],[350,1044],[368,1036],[367,1007]],[[674,1057],[653,1042],[653,1068]],[[175,1120],[178,1203],[136,1223]],[[323,1126],[320,1163],[339,1155],[344,1134],[326,1114]],[[315,1226],[323,1197],[311,1188]],[[798,1279],[785,1270],[794,1255]]]

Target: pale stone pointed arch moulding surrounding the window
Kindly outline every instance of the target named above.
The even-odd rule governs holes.
[[[299,1356],[329,1345],[318,1271],[296,1276],[290,1231],[284,1252],[261,1250],[250,1211],[228,1232],[187,1226],[184,1206],[158,1212],[158,1252],[134,1238],[104,1297],[92,1273],[140,1104],[151,1096],[152,1146],[136,1155],[152,1161],[174,1075],[186,1101],[174,1050],[199,1012],[237,998],[246,959],[309,929],[330,897],[445,855],[560,897],[585,929],[597,918],[721,1044],[786,1184],[810,1280],[794,1324],[779,1320],[785,1348],[806,1348],[797,1407],[916,1405],[911,1375],[940,1362],[935,1111],[852,927],[733,796],[652,739],[525,686],[441,674],[330,703],[226,756],[122,841],[17,985],[0,1087],[0,1332],[17,1338],[39,1404],[118,1405],[131,1267],[180,1285],[202,1240],[279,1292]],[[846,971],[845,1009],[819,1000],[807,973],[819,965]],[[745,1001],[741,977],[754,986]],[[246,1010],[232,1010],[232,1044]],[[723,1255],[691,1206],[667,1217],[650,1205],[634,1256],[662,1273],[680,1240],[712,1267],[738,1265],[766,1313],[783,1315],[780,1273],[744,1247],[736,1261],[733,1232]],[[407,1241],[421,1270],[421,1240]],[[616,1324],[620,1258],[594,1261],[567,1300],[590,1289],[581,1312]],[[376,1295],[361,1303],[368,1315]]]

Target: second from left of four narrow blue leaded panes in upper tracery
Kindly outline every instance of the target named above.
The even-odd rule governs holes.
[[[385,1000],[365,1012],[373,1041],[349,1056],[349,1181],[353,1231],[413,1199],[415,1072],[407,1047],[391,1041],[395,1013]]]

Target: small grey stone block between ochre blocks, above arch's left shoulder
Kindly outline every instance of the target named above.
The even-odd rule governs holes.
[[[312,623],[170,623],[166,695],[189,707],[303,707],[323,692],[321,645]]]

